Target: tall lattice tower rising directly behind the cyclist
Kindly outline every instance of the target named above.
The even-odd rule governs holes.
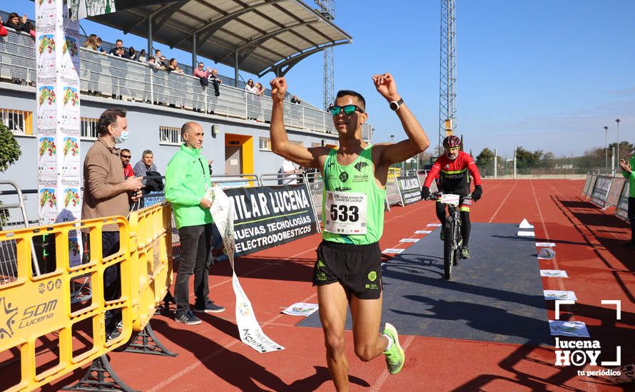
[[[441,43],[440,43],[440,86],[439,86],[439,145],[438,153],[442,153],[442,140],[447,135],[445,126],[449,124],[452,135],[457,129],[457,46],[456,18],[454,0],[441,0]]]

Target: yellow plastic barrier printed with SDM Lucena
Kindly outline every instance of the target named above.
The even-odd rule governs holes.
[[[119,228],[120,247],[116,254],[101,257],[101,231],[105,225]],[[70,267],[68,264],[68,234],[83,229],[90,233],[86,264]],[[56,267],[53,271],[34,277],[31,269],[31,240],[43,234],[54,236]],[[19,383],[9,391],[32,390],[55,378],[85,365],[131,337],[131,238],[124,217],[83,220],[45,227],[31,227],[13,232],[0,232],[0,242],[15,241],[17,276],[13,282],[0,285],[0,354],[19,351],[21,375]],[[113,301],[103,299],[103,273],[107,267],[119,264],[121,268],[121,297]],[[91,299],[83,307],[71,304],[71,285],[77,279],[90,277]],[[131,295],[133,294],[133,295]],[[80,309],[77,309],[80,308]],[[121,309],[123,331],[118,338],[106,342],[104,314],[109,309]],[[92,347],[73,356],[73,327],[90,320]],[[76,330],[75,330],[76,331]],[[41,373],[36,371],[36,341],[47,334],[59,336],[59,361]],[[88,340],[88,339],[85,339]],[[8,386],[9,387],[9,386]]]

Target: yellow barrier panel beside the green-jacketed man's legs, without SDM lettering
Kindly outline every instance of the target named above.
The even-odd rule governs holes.
[[[172,284],[171,207],[163,202],[131,212],[130,247],[133,329],[141,331]]]

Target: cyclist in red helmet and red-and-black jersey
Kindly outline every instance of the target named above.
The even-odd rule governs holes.
[[[476,163],[474,163],[469,154],[459,150],[460,145],[461,139],[457,136],[450,135],[443,139],[445,153],[437,158],[435,164],[432,165],[432,169],[421,188],[421,197],[424,200],[430,197],[430,184],[437,176],[439,177],[437,185],[440,192],[460,196],[459,213],[461,215],[461,236],[463,237],[461,257],[467,259],[469,258],[469,249],[467,249],[469,229],[472,227],[469,222],[469,208],[472,205],[472,200],[476,202],[481,198],[483,189],[481,187],[481,175],[479,175]],[[472,193],[469,192],[470,175],[474,178],[475,185]],[[444,227],[445,204],[440,202],[440,200],[437,200],[437,217],[441,222],[441,227]],[[441,229],[441,239],[444,239],[443,236],[444,232]]]

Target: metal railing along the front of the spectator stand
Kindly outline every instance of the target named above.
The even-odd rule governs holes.
[[[7,31],[6,37],[0,37],[0,78],[35,86],[34,39],[26,33]],[[261,122],[271,118],[272,101],[269,97],[225,85],[220,85],[220,96],[216,97],[211,83],[203,88],[194,76],[168,73],[151,68],[146,63],[86,48],[81,48],[79,53],[82,93]],[[285,125],[337,134],[328,113],[301,104],[286,103]],[[370,124],[362,126],[362,137],[372,140]]]

